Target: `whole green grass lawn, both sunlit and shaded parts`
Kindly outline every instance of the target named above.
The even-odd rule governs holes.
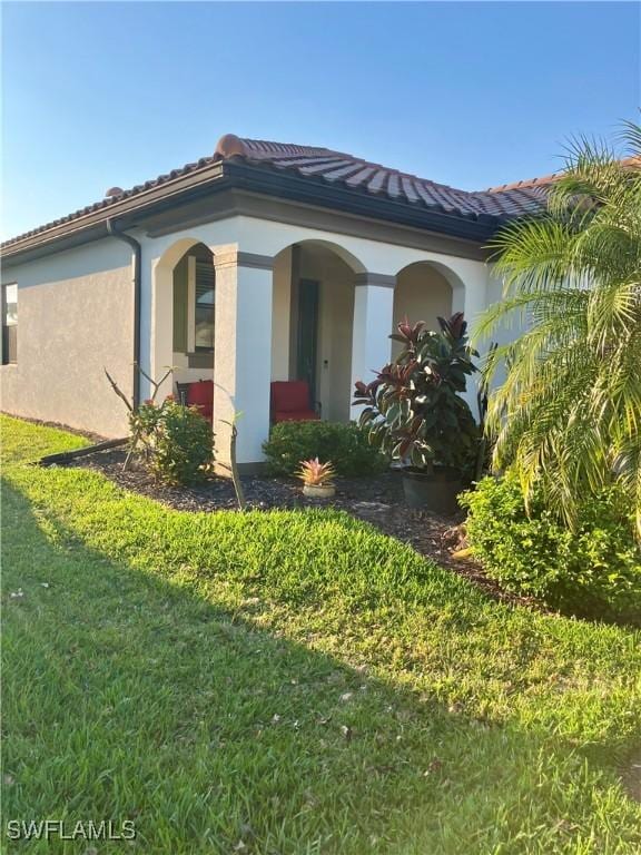
[[[343,513],[28,466],[82,440],[2,426],[3,822],[137,829],[2,852],[641,852],[639,633],[497,605]]]

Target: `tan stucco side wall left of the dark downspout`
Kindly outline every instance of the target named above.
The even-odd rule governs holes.
[[[130,396],[130,250],[101,240],[4,269],[2,282],[18,283],[18,364],[0,367],[2,410],[126,435],[126,409],[103,367]]]

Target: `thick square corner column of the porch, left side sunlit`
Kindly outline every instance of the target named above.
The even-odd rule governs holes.
[[[229,463],[234,413],[239,464],[263,460],[269,434],[273,258],[243,252],[214,254],[216,321],[214,432],[216,459]]]

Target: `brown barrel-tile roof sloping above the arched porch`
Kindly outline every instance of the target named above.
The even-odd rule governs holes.
[[[553,180],[553,176],[546,176],[482,191],[460,190],[328,148],[240,139],[227,134],[221,137],[210,157],[186,164],[127,190],[114,187],[108,190],[105,199],[6,240],[2,248],[10,248],[26,238],[45,235],[50,229],[80,220],[87,215],[103,212],[107,218],[114,206],[137,196],[142,202],[146,193],[164,186],[167,186],[169,193],[172,181],[178,184],[187,176],[197,177],[201,173],[205,180],[210,177],[211,167],[227,160],[243,160],[260,168],[292,173],[326,185],[471,219],[491,217],[500,220],[541,212],[544,207],[544,187]]]

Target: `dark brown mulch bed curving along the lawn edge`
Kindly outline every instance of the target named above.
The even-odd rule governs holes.
[[[132,492],[156,499],[181,511],[236,510],[231,481],[211,478],[194,487],[168,487],[158,483],[145,469],[136,466],[122,471],[126,451],[112,449],[96,452],[73,461],[75,466],[101,472],[111,481]],[[307,499],[294,479],[243,476],[243,487],[249,508],[255,510],[295,508],[336,508],[365,520],[385,534],[407,543],[422,556],[463,576],[486,593],[504,602],[539,608],[534,600],[504,591],[487,579],[482,568],[472,560],[456,560],[452,552],[464,546],[457,518],[437,517],[407,508],[403,498],[401,473],[388,471],[372,478],[339,478],[333,499]]]

